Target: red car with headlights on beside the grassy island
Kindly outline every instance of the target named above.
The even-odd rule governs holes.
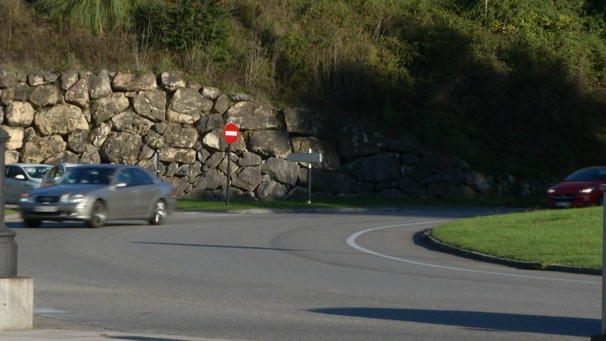
[[[606,166],[582,168],[547,190],[549,207],[585,207],[602,205]]]

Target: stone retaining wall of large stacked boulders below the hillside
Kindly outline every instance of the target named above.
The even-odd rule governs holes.
[[[289,153],[323,153],[314,195],[474,197],[491,185],[464,161],[325,115],[276,109],[248,94],[225,94],[179,72],[11,72],[0,70],[0,127],[6,163],[127,163],[153,169],[180,197],[224,198],[224,125],[232,145],[230,195],[257,200],[307,197],[305,164]]]

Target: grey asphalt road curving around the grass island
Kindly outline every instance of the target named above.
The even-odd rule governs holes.
[[[475,210],[229,215],[17,232],[35,323],[227,340],[588,340],[600,276],[431,249]],[[36,328],[45,328],[37,325]]]

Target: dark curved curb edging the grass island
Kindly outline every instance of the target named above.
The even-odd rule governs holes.
[[[573,274],[586,274],[586,275],[595,275],[602,276],[602,269],[597,268],[585,268],[580,266],[567,266],[567,265],[559,265],[553,264],[548,266],[543,266],[538,261],[518,261],[515,259],[507,259],[496,256],[490,256],[488,254],[482,254],[477,251],[470,251],[461,249],[459,247],[455,247],[450,244],[446,244],[445,242],[436,239],[431,235],[432,229],[424,229],[421,234],[426,239],[426,241],[431,244],[433,247],[440,249],[442,251],[458,254],[460,256],[465,256],[470,259],[477,259],[480,261],[487,261],[495,264],[502,264],[507,266],[512,266],[516,269],[524,269],[524,270],[546,270],[546,271],[560,271],[560,272],[568,272]]]

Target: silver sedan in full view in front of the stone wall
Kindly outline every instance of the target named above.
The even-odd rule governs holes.
[[[19,210],[26,227],[40,227],[43,220],[82,221],[89,227],[107,220],[162,224],[175,202],[173,186],[140,166],[87,164],[23,195]]]

